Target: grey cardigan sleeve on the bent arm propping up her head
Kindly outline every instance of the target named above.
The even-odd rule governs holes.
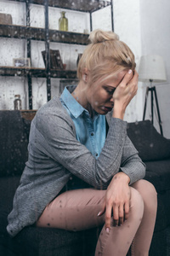
[[[127,166],[126,157],[122,157],[127,140],[127,122],[122,119],[111,119],[104,148],[97,160],[88,148],[77,141],[74,124],[63,108],[58,112],[42,108],[32,125],[37,128],[35,143],[39,150],[97,189],[105,187],[120,171],[122,159],[124,167]],[[128,173],[125,170],[132,181],[143,177],[139,172],[132,175],[133,171]]]

